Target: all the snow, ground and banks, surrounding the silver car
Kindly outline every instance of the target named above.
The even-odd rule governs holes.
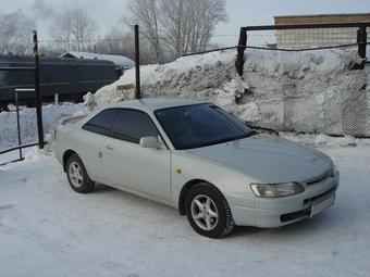
[[[363,75],[347,71],[357,61],[348,52],[320,51],[295,59],[248,51],[244,80],[235,74],[235,51],[143,66],[143,95],[201,98],[249,123],[280,126],[284,88],[279,84],[289,80],[301,103],[317,104],[305,111],[294,102],[293,126],[310,130],[314,126],[303,123],[320,114],[322,128],[332,126],[331,131],[341,133],[342,114],[331,111],[331,103],[343,102],[349,93],[356,96],[365,84]],[[86,95],[84,104],[44,106],[46,134],[63,114],[82,114],[132,99],[134,83],[130,70],[95,96]],[[369,91],[365,95],[368,104]],[[239,104],[235,97],[240,98]],[[297,117],[296,112],[304,114]],[[340,122],[328,124],[334,117]],[[370,113],[362,117],[370,128]],[[23,141],[35,141],[35,109],[23,109],[21,123]],[[197,235],[175,209],[100,184],[95,192],[78,194],[69,187],[52,146],[28,149],[25,161],[0,166],[0,276],[367,276],[370,140],[323,134],[281,136],[334,160],[341,172],[336,203],[313,219],[275,229],[238,227],[222,240]],[[15,113],[1,113],[0,150],[14,143]]]

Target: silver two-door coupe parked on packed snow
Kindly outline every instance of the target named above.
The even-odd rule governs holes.
[[[340,178],[325,154],[195,100],[134,100],[65,118],[55,154],[73,190],[100,182],[169,204],[211,238],[310,218],[334,203]]]

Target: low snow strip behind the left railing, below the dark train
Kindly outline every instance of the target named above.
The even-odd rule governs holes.
[[[82,104],[45,105],[42,106],[44,133],[49,134],[63,115],[71,115],[82,110]],[[24,108],[20,111],[22,143],[37,142],[36,109]],[[17,146],[16,113],[0,113],[0,150]]]

